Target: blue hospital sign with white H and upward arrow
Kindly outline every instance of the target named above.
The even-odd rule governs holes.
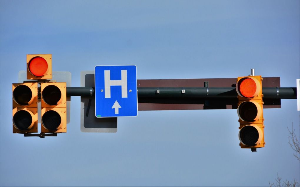
[[[137,66],[95,66],[95,115],[137,116]]]

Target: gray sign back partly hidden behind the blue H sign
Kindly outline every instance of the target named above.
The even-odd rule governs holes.
[[[82,71],[80,73],[81,87],[95,87],[95,72]],[[85,133],[116,133],[118,118],[96,118],[95,97],[81,97],[80,99],[80,130]]]

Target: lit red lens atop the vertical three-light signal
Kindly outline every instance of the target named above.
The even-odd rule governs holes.
[[[245,98],[252,98],[256,92],[257,85],[251,78],[243,78],[238,82],[238,91]]]

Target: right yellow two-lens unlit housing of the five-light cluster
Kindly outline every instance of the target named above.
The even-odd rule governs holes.
[[[66,83],[41,83],[41,132],[67,132]]]

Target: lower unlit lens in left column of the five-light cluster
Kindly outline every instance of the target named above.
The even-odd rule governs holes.
[[[19,130],[28,130],[32,124],[32,116],[26,110],[19,110],[13,115],[13,124]]]

